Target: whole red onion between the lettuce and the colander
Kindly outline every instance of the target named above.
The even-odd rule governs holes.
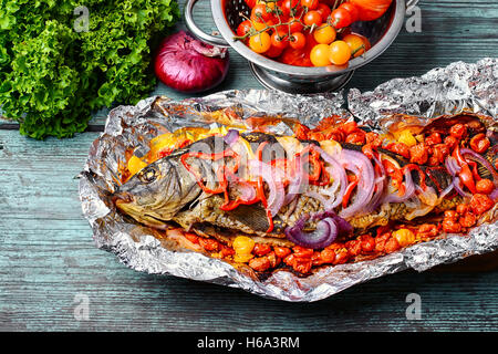
[[[155,59],[157,77],[167,86],[181,92],[207,91],[227,75],[228,50],[212,46],[180,31],[160,43]]]

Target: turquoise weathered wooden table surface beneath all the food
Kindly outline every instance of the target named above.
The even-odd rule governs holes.
[[[403,29],[347,87],[372,90],[455,61],[498,56],[495,0],[425,0],[419,7],[422,32]],[[208,1],[196,9],[203,28],[212,30]],[[217,90],[261,88],[247,62],[231,54],[230,73]],[[154,94],[186,97],[163,85]],[[278,302],[126,268],[95,248],[74,178],[105,113],[95,115],[86,133],[64,140],[32,140],[14,125],[0,126],[1,331],[498,330],[498,270],[483,266],[490,257],[474,262],[478,271],[473,264],[406,271],[315,303]],[[406,316],[409,294],[419,296],[419,320]]]

